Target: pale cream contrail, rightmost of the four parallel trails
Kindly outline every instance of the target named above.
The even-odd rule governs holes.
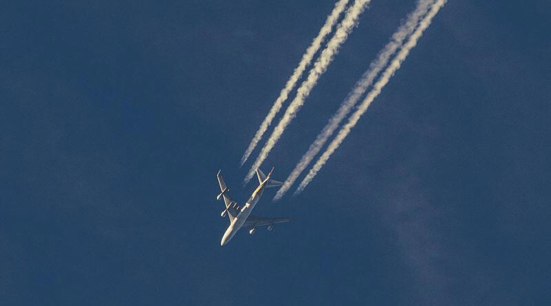
[[[360,120],[360,117],[365,113],[369,105],[371,105],[373,99],[375,99],[381,93],[382,88],[388,83],[388,80],[390,80],[393,74],[395,74],[395,72],[399,69],[400,65],[402,65],[410,50],[415,47],[415,45],[417,45],[417,41],[419,41],[419,38],[422,36],[424,30],[428,28],[428,25],[430,25],[430,21],[432,21],[437,12],[444,6],[444,4],[446,4],[446,1],[447,0],[437,0],[433,7],[430,8],[430,11],[419,23],[419,28],[417,28],[417,30],[415,30],[415,32],[411,34],[406,44],[402,47],[402,49],[399,50],[393,61],[391,61],[391,63],[388,65],[379,80],[377,80],[377,83],[373,85],[373,89],[369,91],[362,104],[357,108],[352,116],[350,116],[349,122],[347,122],[344,127],[340,129],[335,139],[331,142],[331,144],[329,144],[326,151],[322,154],[322,156],[320,156],[318,161],[315,162],[314,166],[310,169],[308,175],[306,175],[306,177],[302,179],[302,182],[300,182],[300,185],[295,191],[295,195],[301,193],[302,190],[306,188],[306,186],[312,181],[313,177],[315,177],[318,171],[320,171],[320,168],[322,168],[327,160],[329,160],[331,154],[333,154],[333,152],[338,149],[344,138],[349,135],[351,129],[353,129],[358,120]]]

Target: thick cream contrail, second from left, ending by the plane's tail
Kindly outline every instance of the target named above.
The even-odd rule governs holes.
[[[339,51],[340,45],[346,41],[352,29],[355,25],[357,25],[360,14],[364,12],[364,9],[369,2],[371,2],[371,0],[356,0],[354,4],[346,10],[346,15],[338,25],[335,34],[327,43],[325,49],[322,51],[322,54],[320,54],[320,58],[315,61],[314,66],[309,72],[308,78],[306,78],[306,80],[304,80],[304,82],[302,82],[300,87],[297,89],[297,96],[295,96],[293,102],[291,102],[289,107],[287,107],[283,118],[280,120],[275,129],[273,129],[270,138],[267,140],[266,144],[264,144],[262,151],[260,151],[260,155],[258,155],[253,166],[251,166],[247,177],[245,177],[245,182],[249,182],[249,180],[253,177],[256,168],[258,168],[262,162],[264,162],[266,157],[268,157],[268,154],[273,146],[275,146],[275,143],[278,142],[284,129],[287,127],[289,122],[295,118],[296,113],[298,113],[300,107],[304,104],[304,99],[306,99],[306,97],[310,94],[311,89],[316,83],[318,83],[320,76],[326,71],[331,61],[333,61],[335,54]]]

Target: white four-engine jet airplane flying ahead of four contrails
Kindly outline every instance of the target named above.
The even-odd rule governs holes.
[[[228,241],[233,238],[236,232],[243,226],[250,228],[249,234],[253,234],[257,226],[268,226],[267,229],[271,231],[275,223],[291,221],[289,218],[264,218],[251,215],[251,211],[262,196],[264,188],[277,187],[283,184],[282,182],[278,182],[275,179],[270,178],[272,172],[273,168],[271,168],[268,175],[264,175],[259,168],[256,169],[256,176],[258,177],[258,183],[260,185],[253,191],[253,194],[249,197],[245,205],[240,207],[236,201],[233,201],[231,197],[229,197],[229,188],[226,186],[226,182],[224,182],[220,171],[218,171],[216,177],[218,178],[218,184],[220,184],[221,192],[216,199],[220,200],[223,197],[226,204],[226,209],[222,210],[220,217],[223,218],[226,214],[229,217],[229,226],[224,233],[224,236],[222,236],[220,245],[225,245],[228,243]]]

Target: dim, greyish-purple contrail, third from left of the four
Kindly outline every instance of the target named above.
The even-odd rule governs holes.
[[[384,46],[384,48],[379,52],[376,60],[371,62],[368,70],[364,73],[362,78],[357,81],[355,87],[352,89],[349,96],[342,102],[340,108],[337,110],[335,115],[327,122],[326,126],[315,138],[314,142],[310,145],[308,151],[302,155],[300,162],[295,166],[289,177],[285,180],[281,186],[278,193],[273,197],[274,201],[278,201],[281,197],[287,193],[287,190],[293,186],[293,183],[298,178],[300,173],[304,171],[306,166],[310,164],[315,155],[318,155],[325,142],[333,135],[333,132],[337,127],[339,127],[340,122],[349,114],[350,110],[356,102],[364,95],[367,88],[373,84],[375,77],[381,72],[384,67],[388,64],[388,60],[396,52],[398,47],[400,47],[407,36],[409,36],[415,28],[417,28],[417,23],[419,19],[423,17],[424,14],[428,11],[428,8],[431,4],[434,3],[434,0],[419,0],[417,2],[417,8],[408,14],[406,21],[400,25],[398,30],[391,37],[391,41]]]

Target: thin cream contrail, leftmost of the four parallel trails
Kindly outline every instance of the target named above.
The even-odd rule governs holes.
[[[293,71],[293,75],[291,75],[291,78],[287,80],[287,83],[285,83],[285,87],[281,89],[280,96],[275,100],[275,102],[273,102],[273,105],[268,112],[268,115],[266,116],[266,118],[264,118],[264,121],[262,121],[260,127],[258,127],[258,131],[256,131],[256,134],[251,140],[247,151],[245,151],[245,154],[243,154],[243,157],[241,157],[241,166],[245,164],[245,162],[247,162],[247,158],[249,158],[260,139],[262,139],[262,135],[266,133],[266,130],[271,124],[273,118],[275,118],[275,115],[278,113],[278,111],[280,111],[283,103],[287,100],[289,92],[291,92],[291,90],[295,88],[295,85],[300,76],[302,76],[304,69],[306,69],[306,66],[311,63],[315,53],[320,50],[320,47],[325,37],[327,36],[327,34],[331,33],[333,25],[335,25],[335,23],[339,19],[340,14],[344,11],[344,8],[346,8],[346,3],[348,2],[349,0],[340,0],[335,3],[335,8],[333,8],[333,11],[331,11],[331,14],[329,14],[329,16],[327,17],[324,25],[322,26],[322,29],[320,30],[320,33],[318,33],[318,36],[315,36],[315,39],[313,39],[308,49],[306,49],[306,53],[302,55],[302,59]]]

